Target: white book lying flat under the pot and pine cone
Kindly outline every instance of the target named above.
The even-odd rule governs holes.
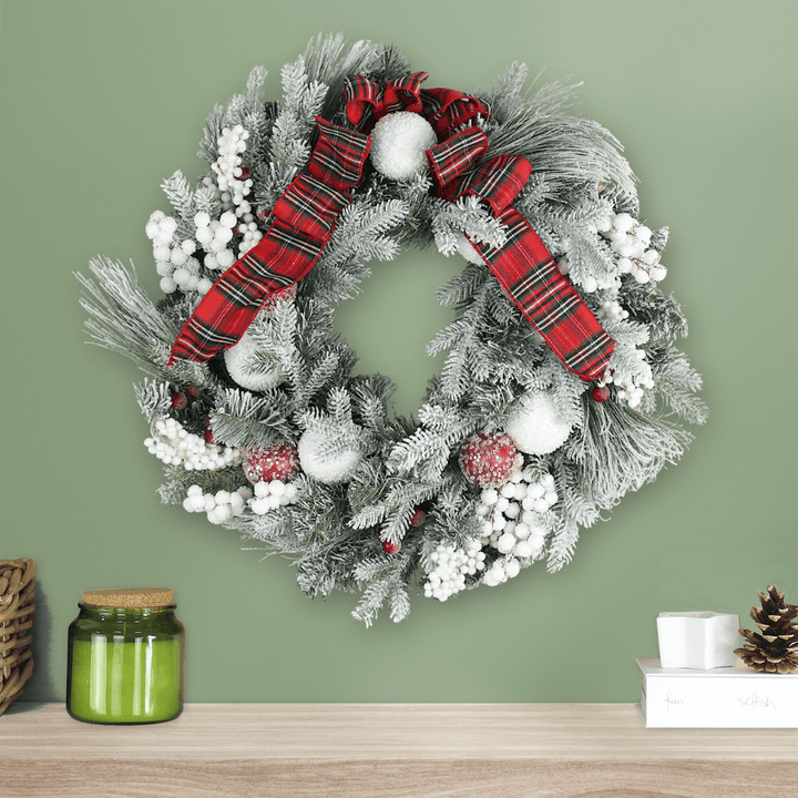
[[[648,728],[798,728],[798,673],[756,673],[739,661],[712,671],[637,664],[637,709]]]

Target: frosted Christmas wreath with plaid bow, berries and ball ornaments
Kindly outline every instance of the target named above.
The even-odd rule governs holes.
[[[524,93],[513,64],[473,94],[424,89],[395,48],[320,35],[207,120],[195,185],[146,224],[165,297],[98,258],[95,342],[136,388],[166,503],[291,557],[308,595],[408,589],[440,601],[570,561],[580,528],[675,462],[703,422],[700,377],[663,294],[665,228],[640,219],[618,142],[570,113],[574,86]],[[374,258],[462,256],[438,291],[457,320],[416,418],[357,376],[334,328]]]

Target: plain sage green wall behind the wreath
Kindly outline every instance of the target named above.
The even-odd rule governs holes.
[[[0,12],[2,420],[0,555],[38,561],[37,672],[62,699],[82,591],[170,586],[192,702],[632,702],[665,610],[747,612],[776,583],[798,602],[796,57],[792,2],[6,2]],[[214,103],[318,31],[402,48],[431,85],[490,83],[512,61],[584,81],[643,215],[669,225],[665,288],[690,320],[710,420],[677,468],[542,566],[365,630],[355,596],[309,601],[285,561],[164,508],[160,463],[121,357],[84,344],[73,272],[132,258],[156,294],[144,223]],[[377,264],[340,328],[410,411],[444,321],[433,252]],[[410,273],[418,287],[408,286]],[[757,285],[759,283],[759,285]],[[390,349],[375,326],[401,338]]]

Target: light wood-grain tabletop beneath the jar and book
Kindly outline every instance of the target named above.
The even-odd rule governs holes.
[[[628,704],[192,704],[120,727],[18,703],[0,795],[794,798],[798,729],[646,729]]]

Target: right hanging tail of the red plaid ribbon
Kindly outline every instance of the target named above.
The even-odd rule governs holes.
[[[501,249],[471,245],[565,368],[585,382],[601,379],[615,341],[560,273],[529,222],[512,205],[497,218],[507,229],[507,244]]]

